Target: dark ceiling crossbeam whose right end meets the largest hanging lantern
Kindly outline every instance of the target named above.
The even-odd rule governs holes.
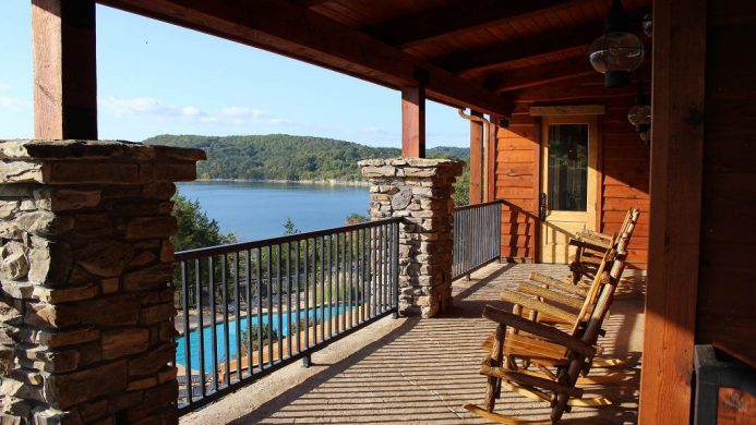
[[[538,56],[567,50],[587,51],[590,42],[601,34],[601,28],[602,23],[599,21],[559,28],[495,45],[459,50],[435,58],[433,62],[458,75],[469,76],[476,72],[493,70],[514,61]]]

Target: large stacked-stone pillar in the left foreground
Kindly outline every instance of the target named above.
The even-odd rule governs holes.
[[[0,143],[0,423],[177,423],[175,181],[196,149]]]

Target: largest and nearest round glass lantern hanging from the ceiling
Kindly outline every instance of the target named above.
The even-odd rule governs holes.
[[[627,13],[620,0],[614,0],[604,20],[604,33],[597,38],[588,59],[593,69],[604,74],[607,87],[624,87],[629,84],[629,73],[644,61],[644,44],[627,24]]]

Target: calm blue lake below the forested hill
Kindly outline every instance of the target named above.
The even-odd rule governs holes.
[[[284,234],[291,218],[302,232],[344,226],[351,212],[368,214],[367,186],[273,182],[179,183],[179,193],[200,201],[207,216],[224,233],[239,242]]]

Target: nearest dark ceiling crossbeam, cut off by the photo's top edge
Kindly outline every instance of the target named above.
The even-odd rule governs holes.
[[[465,0],[422,13],[401,16],[362,31],[389,45],[408,49],[441,38],[457,37],[502,25],[535,13],[545,13],[597,0]]]

